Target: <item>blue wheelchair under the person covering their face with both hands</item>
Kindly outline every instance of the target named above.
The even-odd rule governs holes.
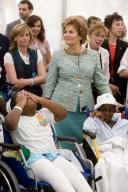
[[[5,165],[5,167],[8,167],[6,170],[1,168],[0,164],[0,173],[2,172],[3,175],[3,181],[2,183],[6,182],[6,186],[2,189],[2,185],[0,183],[1,191],[0,192],[19,192],[19,191],[29,191],[29,192],[54,192],[52,187],[49,183],[43,182],[43,181],[37,181],[35,174],[33,170],[28,168],[26,159],[24,157],[22,148],[18,144],[13,144],[11,140],[11,136],[9,131],[6,129],[4,123],[1,124],[1,127],[3,129],[3,136],[4,136],[4,143],[0,143],[1,150],[1,156],[0,159],[2,162],[2,165]],[[75,142],[76,150],[75,155],[77,156],[78,160],[81,163],[82,168],[84,169],[83,175],[85,179],[89,182],[92,189],[94,190],[94,167],[90,160],[87,160],[84,158],[79,145],[76,142],[75,138],[63,138],[59,137],[57,138],[59,141],[68,141],[68,142]],[[18,151],[20,156],[22,157],[22,160],[17,159],[13,156],[6,156],[6,151]],[[8,171],[10,170],[10,171]],[[31,173],[32,178],[29,177],[28,172]],[[8,176],[9,175],[9,176]],[[10,188],[9,188],[10,187]],[[6,190],[7,188],[7,190]]]

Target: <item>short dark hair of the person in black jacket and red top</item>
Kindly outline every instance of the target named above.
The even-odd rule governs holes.
[[[119,15],[117,12],[113,13],[112,15],[107,15],[104,19],[104,25],[110,29],[114,21],[122,21],[123,17]]]

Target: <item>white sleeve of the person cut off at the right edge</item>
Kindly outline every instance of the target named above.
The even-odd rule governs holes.
[[[128,69],[128,48],[126,49],[126,51],[121,59],[120,66],[118,68],[117,73],[119,73],[125,69]]]

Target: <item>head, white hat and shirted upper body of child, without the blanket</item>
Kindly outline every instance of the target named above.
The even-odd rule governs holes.
[[[102,94],[97,97],[94,106],[95,116],[84,122],[83,130],[94,133],[98,144],[115,136],[128,139],[128,120],[121,119],[120,113],[116,113],[116,106],[113,95]]]

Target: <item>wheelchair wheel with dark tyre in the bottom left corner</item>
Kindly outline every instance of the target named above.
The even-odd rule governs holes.
[[[20,192],[14,173],[3,161],[0,161],[0,192]]]

